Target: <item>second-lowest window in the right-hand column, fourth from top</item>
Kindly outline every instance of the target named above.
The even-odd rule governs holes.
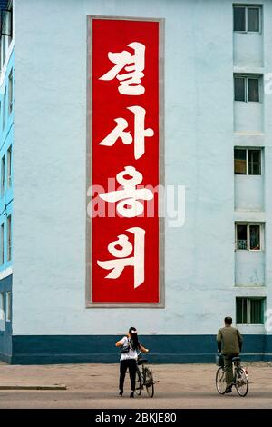
[[[236,249],[260,251],[261,225],[258,223],[238,223],[236,225]]]

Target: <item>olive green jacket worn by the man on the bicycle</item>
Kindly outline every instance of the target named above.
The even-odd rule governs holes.
[[[243,338],[238,329],[232,326],[220,328],[217,341],[219,352],[222,354],[238,354],[242,349]]]

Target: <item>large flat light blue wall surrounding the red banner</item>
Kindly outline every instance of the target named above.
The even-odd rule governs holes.
[[[166,184],[186,185],[186,223],[166,227],[164,310],[85,308],[86,15],[166,19]],[[232,2],[20,0],[15,16],[14,334],[216,333],[235,317]]]

